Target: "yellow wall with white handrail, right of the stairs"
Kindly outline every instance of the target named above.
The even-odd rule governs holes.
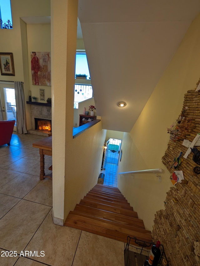
[[[172,186],[170,173],[161,159],[167,149],[167,128],[183,107],[184,94],[196,88],[199,79],[200,15],[192,22],[168,68],[130,133],[124,133],[119,172],[163,168],[162,182],[155,174],[118,176],[118,187],[130,202],[145,228],[151,230],[154,214],[164,208],[166,192]],[[174,157],[179,152],[172,151]],[[173,162],[172,162],[173,164]]]

